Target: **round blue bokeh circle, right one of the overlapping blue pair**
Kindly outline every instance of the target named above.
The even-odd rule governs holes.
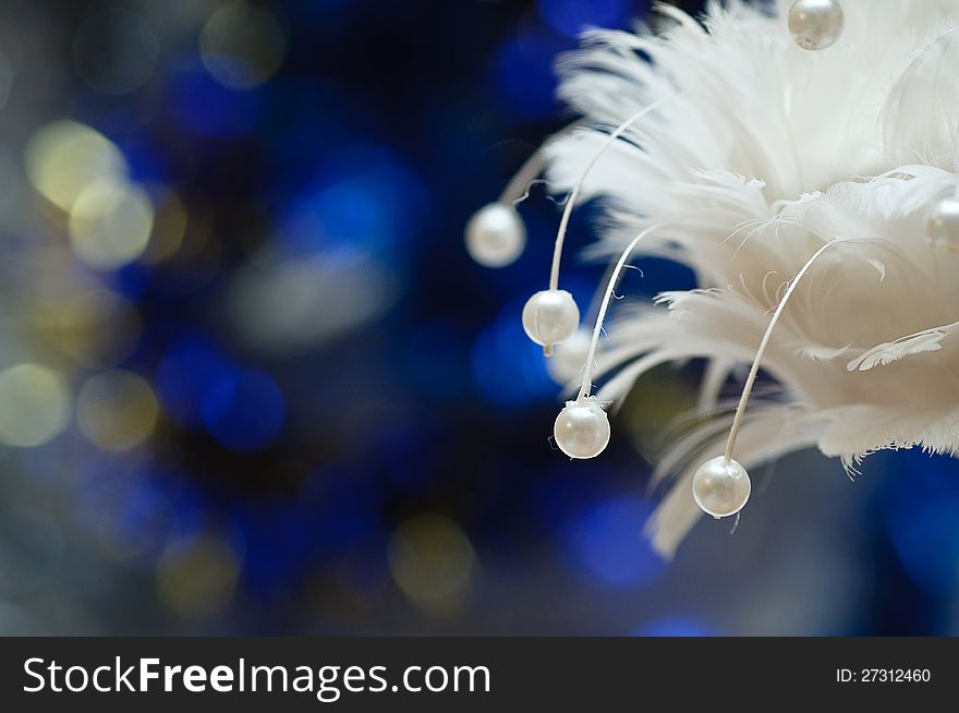
[[[203,399],[203,422],[220,445],[239,452],[262,450],[283,428],[287,403],[266,374],[238,370],[218,378]]]

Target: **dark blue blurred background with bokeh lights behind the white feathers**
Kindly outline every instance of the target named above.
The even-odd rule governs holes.
[[[647,11],[3,0],[0,633],[959,633],[950,459],[798,455],[664,563],[646,457],[695,374],[551,448],[519,312],[559,209],[500,270],[462,229],[573,119],[557,52]]]

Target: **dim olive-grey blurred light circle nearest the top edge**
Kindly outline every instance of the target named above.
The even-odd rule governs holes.
[[[286,51],[287,38],[277,19],[242,1],[215,11],[199,35],[207,72],[234,89],[267,82],[280,69]]]

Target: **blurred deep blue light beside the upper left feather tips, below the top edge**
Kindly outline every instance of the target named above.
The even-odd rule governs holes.
[[[496,69],[510,109],[527,119],[556,116],[556,56],[572,49],[571,40],[544,31],[518,35],[499,48]]]

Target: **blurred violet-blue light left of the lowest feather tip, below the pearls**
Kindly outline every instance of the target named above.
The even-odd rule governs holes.
[[[651,512],[645,500],[617,496],[591,503],[573,518],[566,532],[567,546],[587,580],[635,588],[663,570],[663,560],[643,536]]]

